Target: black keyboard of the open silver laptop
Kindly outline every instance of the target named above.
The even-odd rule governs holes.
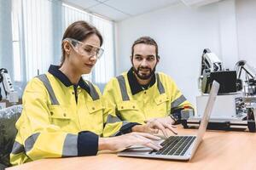
[[[183,156],[194,140],[195,136],[171,136],[160,144],[163,148],[156,151],[155,154],[165,156]],[[155,150],[153,152],[155,152]]]

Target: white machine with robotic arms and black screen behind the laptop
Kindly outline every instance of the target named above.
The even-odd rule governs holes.
[[[212,82],[215,80],[220,84],[220,88],[207,128],[249,129],[250,132],[255,132],[256,71],[244,60],[236,63],[235,70],[225,70],[216,54],[209,49],[203,50],[198,81],[201,95],[196,97],[197,115],[182,117],[183,127],[199,127]]]

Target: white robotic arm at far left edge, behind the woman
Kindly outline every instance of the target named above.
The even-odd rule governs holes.
[[[6,69],[0,69],[0,84],[2,83],[3,92],[5,95],[5,99],[9,101],[9,103],[16,103],[19,100],[18,93],[15,91],[14,85],[9,77],[9,73]],[[2,101],[3,96],[1,94],[0,88],[0,101]]]

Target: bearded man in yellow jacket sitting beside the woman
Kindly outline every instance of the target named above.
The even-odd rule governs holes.
[[[140,37],[131,47],[130,71],[115,77],[106,85],[103,97],[112,108],[105,134],[123,131],[145,132],[139,124],[154,122],[165,135],[180,119],[184,107],[193,108],[171,77],[155,73],[160,61],[158,45],[151,37]],[[137,124],[134,124],[137,122]],[[150,127],[150,126],[149,126]],[[152,133],[152,132],[149,132]]]

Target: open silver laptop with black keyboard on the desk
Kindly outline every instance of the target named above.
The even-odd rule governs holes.
[[[196,135],[175,135],[168,139],[160,140],[159,144],[163,146],[160,150],[153,150],[148,147],[130,147],[118,153],[118,156],[131,156],[131,157],[147,157],[157,159],[170,159],[170,160],[191,160],[195,155],[201,140],[207,130],[207,124],[212,112],[216,96],[218,94],[219,83],[212,82],[211,92],[207,101],[207,106],[204,115],[201,119],[201,124]]]

